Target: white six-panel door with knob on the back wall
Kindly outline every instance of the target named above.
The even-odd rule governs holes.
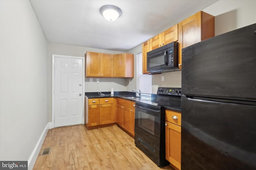
[[[82,59],[55,57],[54,127],[82,124]]]

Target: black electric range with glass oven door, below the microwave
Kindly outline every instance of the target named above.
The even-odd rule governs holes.
[[[181,88],[158,88],[157,99],[136,101],[134,142],[158,166],[165,159],[165,109],[181,112]]]

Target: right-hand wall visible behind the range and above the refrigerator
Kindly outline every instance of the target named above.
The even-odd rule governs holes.
[[[215,16],[215,35],[220,35],[256,23],[255,6],[256,0],[219,0],[202,11]],[[153,75],[152,93],[156,94],[160,86],[181,87],[181,72]],[[162,76],[164,76],[164,81],[161,80]]]

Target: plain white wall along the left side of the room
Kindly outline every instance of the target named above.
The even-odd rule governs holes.
[[[0,37],[0,160],[29,160],[48,96],[47,41],[28,0],[0,0]]]

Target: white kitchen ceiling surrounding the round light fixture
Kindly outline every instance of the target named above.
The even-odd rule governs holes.
[[[30,0],[46,39],[113,51],[128,51],[218,0]],[[122,10],[107,21],[100,7]]]

